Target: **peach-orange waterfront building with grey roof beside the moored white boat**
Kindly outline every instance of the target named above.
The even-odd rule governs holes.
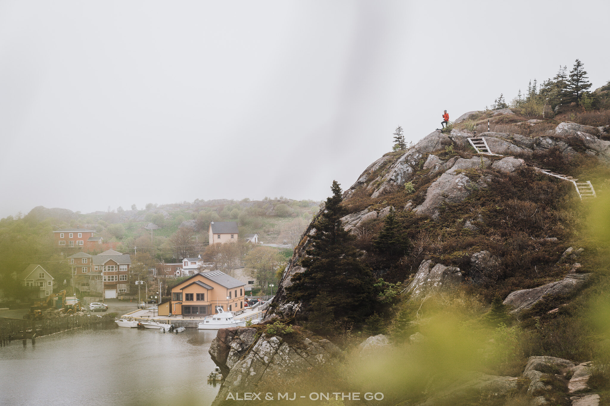
[[[206,317],[216,306],[224,311],[243,309],[245,284],[221,271],[196,273],[171,288],[170,311],[183,317]]]

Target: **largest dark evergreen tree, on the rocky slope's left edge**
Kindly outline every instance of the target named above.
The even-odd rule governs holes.
[[[332,196],[326,199],[324,211],[314,223],[314,234],[301,259],[305,270],[292,276],[287,289],[290,301],[323,304],[324,312],[332,312],[334,321],[353,323],[370,315],[375,306],[371,271],[362,264],[361,252],[351,242],[354,237],[343,228],[341,188],[332,182]],[[321,309],[311,308],[310,320],[318,318]],[[320,315],[321,319],[328,317]]]

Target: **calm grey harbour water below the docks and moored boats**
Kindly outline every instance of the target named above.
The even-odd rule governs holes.
[[[210,405],[216,331],[109,327],[0,348],[0,405]]]

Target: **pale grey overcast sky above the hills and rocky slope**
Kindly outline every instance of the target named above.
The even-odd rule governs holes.
[[[1,1],[0,217],[321,200],[530,79],[610,80],[604,1]]]

